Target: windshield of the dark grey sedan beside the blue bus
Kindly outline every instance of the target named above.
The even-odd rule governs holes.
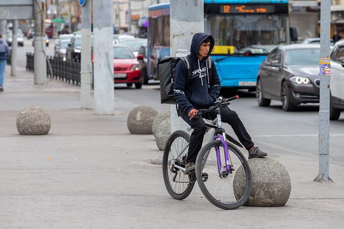
[[[286,65],[319,64],[320,49],[287,50]]]

